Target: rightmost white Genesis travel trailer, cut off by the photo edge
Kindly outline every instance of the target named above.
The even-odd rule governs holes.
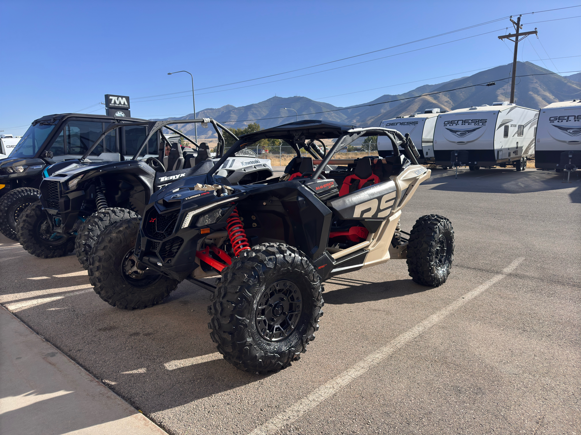
[[[561,153],[581,151],[581,99],[541,108],[535,146],[535,168],[563,170]]]

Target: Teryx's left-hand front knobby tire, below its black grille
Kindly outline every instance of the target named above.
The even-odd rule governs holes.
[[[40,201],[30,204],[18,221],[18,240],[22,247],[35,257],[55,258],[73,252],[74,237],[70,235],[51,238],[53,233]]]

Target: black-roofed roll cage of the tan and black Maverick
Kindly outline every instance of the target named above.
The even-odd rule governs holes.
[[[250,146],[254,142],[261,139],[280,139],[285,140],[295,150],[297,157],[300,157],[300,148],[306,149],[309,154],[313,155],[315,159],[321,159],[321,164],[315,169],[311,176],[311,180],[316,180],[326,165],[329,164],[331,158],[335,153],[345,148],[359,137],[364,136],[387,136],[392,142],[393,158],[400,155],[399,147],[403,148],[406,157],[417,165],[417,158],[419,157],[418,150],[410,139],[410,135],[402,135],[399,131],[383,128],[383,127],[365,127],[360,128],[353,125],[340,125],[335,122],[319,121],[316,119],[306,119],[304,121],[290,122],[289,124],[282,124],[276,127],[264,129],[254,133],[242,135],[232,145],[227,153],[225,153],[214,167],[208,173],[208,176],[213,175],[218,168],[231,155],[238,153],[238,151]],[[329,151],[326,150],[325,144],[321,139],[337,139]],[[324,152],[314,145],[317,140],[323,144]]]

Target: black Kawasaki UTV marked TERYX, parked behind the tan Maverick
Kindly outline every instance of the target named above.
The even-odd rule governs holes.
[[[224,148],[219,124],[213,119],[112,124],[92,144],[84,144],[85,152],[80,159],[46,168],[40,184],[40,201],[28,206],[20,216],[20,244],[41,258],[63,256],[74,249],[86,269],[92,246],[103,229],[121,219],[140,215],[154,191],[181,177],[205,174],[213,168],[214,162],[206,143],[198,145],[168,125],[192,122],[202,123],[206,127],[211,124],[218,135],[218,148]],[[220,127],[232,135],[228,129]],[[128,129],[139,128],[142,132],[131,159],[126,160],[120,154],[116,154],[116,159],[110,158],[105,162],[88,159],[107,136],[122,137],[122,134],[116,135],[121,128],[125,131],[125,138]],[[182,149],[178,141],[171,139],[173,143],[170,143],[163,134],[164,129],[191,142],[193,149]],[[234,135],[232,137],[238,139]],[[169,155],[166,155],[166,147],[170,149]],[[234,157],[234,160],[253,164],[230,173],[231,178],[241,179],[248,173],[259,171],[264,178],[272,175],[268,161],[261,160],[257,164],[256,156],[250,154]],[[217,157],[219,160],[221,155]]]

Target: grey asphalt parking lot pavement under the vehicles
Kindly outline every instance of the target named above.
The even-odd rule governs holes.
[[[401,218],[451,220],[438,288],[405,260],[331,278],[300,361],[241,372],[209,337],[210,293],[182,282],[124,311],[76,258],[38,259],[0,237],[0,302],[170,434],[575,434],[581,179],[528,169],[436,169]],[[32,279],[34,278],[34,279]]]

